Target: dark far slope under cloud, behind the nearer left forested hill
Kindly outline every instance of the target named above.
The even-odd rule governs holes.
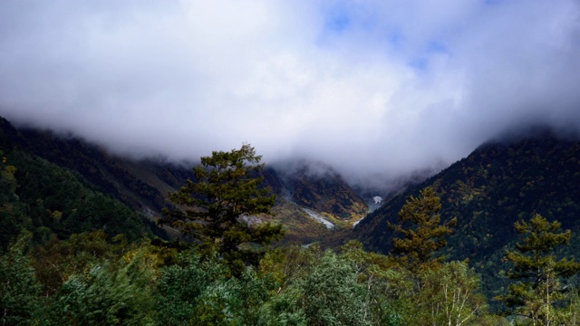
[[[85,177],[102,191],[140,211],[160,211],[165,192],[183,184],[188,170],[179,166],[155,166],[113,156],[96,145],[48,130],[14,129],[4,120],[5,137],[15,147],[47,159]]]

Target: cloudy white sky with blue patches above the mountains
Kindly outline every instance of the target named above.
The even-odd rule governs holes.
[[[0,115],[117,152],[256,148],[354,184],[580,129],[580,3],[5,0]]]

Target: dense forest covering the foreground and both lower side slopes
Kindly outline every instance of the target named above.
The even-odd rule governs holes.
[[[365,217],[351,235],[362,241],[324,249],[281,245],[280,220],[261,219],[276,199],[247,145],[167,174],[177,190],[160,222],[185,235],[171,240],[102,185],[0,136],[5,325],[580,323],[578,188],[560,179],[578,177],[572,141],[488,144]]]

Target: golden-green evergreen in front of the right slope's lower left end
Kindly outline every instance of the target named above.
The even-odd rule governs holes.
[[[399,212],[400,224],[387,222],[389,228],[404,235],[393,240],[395,254],[400,254],[411,271],[440,264],[443,257],[435,257],[436,252],[447,245],[445,235],[452,232],[457,224],[453,218],[440,224],[440,197],[431,187],[420,190],[419,197],[409,197]],[[406,225],[411,224],[411,227]]]

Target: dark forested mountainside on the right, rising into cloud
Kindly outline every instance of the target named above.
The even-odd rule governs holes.
[[[580,249],[580,141],[558,138],[546,130],[531,137],[490,141],[439,174],[401,192],[365,217],[353,231],[367,249],[388,254],[406,198],[433,187],[441,198],[441,220],[457,218],[441,254],[469,259],[482,273],[489,296],[501,292],[505,249],[517,241],[514,223],[535,214],[572,230],[570,246]],[[504,280],[504,281],[502,281]]]

